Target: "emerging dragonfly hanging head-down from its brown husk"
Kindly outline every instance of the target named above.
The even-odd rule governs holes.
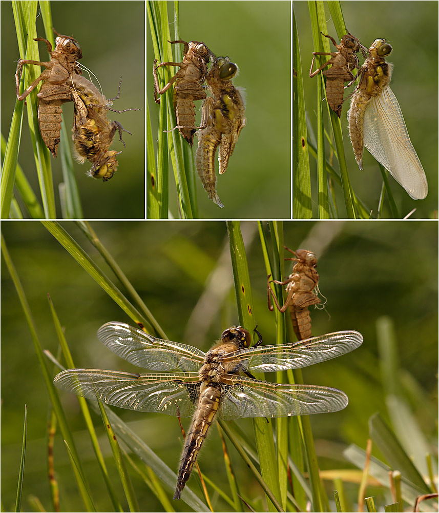
[[[131,135],[131,132],[124,130],[117,121],[109,122],[107,111],[121,113],[139,109],[114,110],[109,107],[113,103],[112,100],[119,98],[122,79],[119,82],[118,95],[111,100],[106,100],[106,97],[87,78],[74,74],[72,80],[75,104],[72,139],[79,155],[78,160],[81,163],[86,159],[92,162],[93,167],[89,175],[107,182],[117,170],[118,162],[115,155],[121,153],[109,150],[116,130],[119,131],[119,139],[123,146],[125,143],[122,141],[122,131]]]

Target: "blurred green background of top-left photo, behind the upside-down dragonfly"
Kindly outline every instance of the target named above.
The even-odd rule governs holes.
[[[10,2],[0,4],[2,14],[2,113],[1,127],[5,139],[8,139],[11,116],[15,105],[15,70],[19,59],[15,23]],[[112,180],[101,183],[86,176],[91,164],[79,164],[74,160],[77,171],[76,181],[82,201],[83,214],[88,219],[144,219],[144,3],[143,2],[52,2],[53,26],[61,34],[73,35],[82,49],[81,63],[98,77],[103,94],[107,98],[117,95],[119,77],[122,77],[120,98],[114,108],[141,109],[140,112],[116,114],[109,111],[108,119],[117,120],[132,135],[123,133],[123,148],[116,135],[111,149],[122,151],[117,156],[119,167]],[[41,16],[37,18],[37,35],[45,37]],[[39,43],[41,61],[48,59],[46,45]],[[41,67],[41,70],[44,68]],[[84,75],[88,78],[87,72]],[[96,79],[93,82],[97,85]],[[73,103],[62,106],[71,147],[71,128],[73,122]],[[23,131],[18,154],[18,163],[22,166],[27,179],[39,198],[35,160],[29,135],[26,109],[23,116]],[[52,163],[55,196],[62,182],[60,157]],[[59,204],[57,212],[60,216]]]

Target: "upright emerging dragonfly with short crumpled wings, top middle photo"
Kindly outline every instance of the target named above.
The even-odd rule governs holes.
[[[213,97],[203,102],[202,122],[204,128],[197,132],[198,148],[195,158],[198,175],[209,198],[219,207],[216,192],[215,154],[219,146],[219,173],[227,170],[228,160],[236,141],[246,124],[245,108],[240,92],[232,84],[238,68],[228,57],[218,57],[209,71],[206,82]]]

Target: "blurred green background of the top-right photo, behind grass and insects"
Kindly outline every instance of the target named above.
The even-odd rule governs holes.
[[[338,40],[331,21],[327,2],[325,6],[328,34]],[[309,78],[309,68],[314,50],[308,4],[293,2],[298,27],[300,55],[305,93],[305,108],[308,116],[308,137],[313,137],[309,127],[315,132],[317,126],[317,80]],[[404,189],[389,176],[390,186],[396,204],[404,216],[413,208],[413,219],[437,218],[437,2],[341,2],[346,28],[360,42],[369,48],[377,38],[385,38],[393,48],[387,59],[394,64],[390,87],[394,92],[404,119],[411,142],[419,156],[427,175],[429,192],[422,201],[412,200]],[[330,51],[337,51],[330,43]],[[329,57],[328,57],[329,58]],[[360,62],[363,56],[359,54]],[[314,70],[316,67],[314,67]],[[345,97],[351,94],[353,86],[345,90]],[[379,166],[367,150],[364,151],[363,167],[360,171],[354,158],[349,139],[347,111],[350,100],[343,104],[340,117],[349,178],[352,188],[366,205],[376,213],[382,178]],[[324,112],[326,111],[326,107]],[[328,115],[325,126],[330,127]],[[326,157],[329,147],[326,146]],[[336,162],[336,159],[334,159]],[[310,157],[311,170],[316,178],[317,164]],[[314,182],[316,183],[316,182]],[[337,198],[343,205],[340,187],[336,187]],[[390,215],[387,212],[387,215]]]

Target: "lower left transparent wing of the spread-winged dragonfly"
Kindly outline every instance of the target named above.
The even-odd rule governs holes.
[[[190,417],[200,393],[195,372],[132,374],[110,370],[69,369],[53,380],[61,390],[134,411],[159,411]]]

